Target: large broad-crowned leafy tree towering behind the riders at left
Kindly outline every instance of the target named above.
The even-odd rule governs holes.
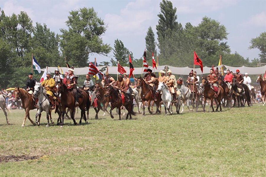
[[[88,66],[90,53],[107,56],[111,51],[109,44],[104,44],[101,36],[106,32],[106,26],[93,8],[81,8],[69,12],[66,21],[68,30],[60,29],[61,51],[75,66]]]

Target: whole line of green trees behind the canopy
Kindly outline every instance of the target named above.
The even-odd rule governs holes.
[[[104,43],[102,35],[108,30],[104,21],[98,17],[93,8],[80,8],[69,12],[67,28],[60,29],[61,35],[51,31],[46,24],[33,21],[26,12],[7,16],[3,10],[0,14],[0,87],[25,86],[27,74],[31,71],[31,55],[41,68],[45,66],[65,66],[65,59],[75,67],[88,66],[89,55],[98,53],[103,56],[113,51],[111,61],[103,61],[99,66],[128,66],[128,55],[134,66],[142,66],[142,57],[137,58],[119,39],[111,44]],[[151,53],[159,57],[160,65],[192,66],[193,51],[197,51],[203,64],[218,64],[222,55],[223,64],[242,66],[266,63],[266,33],[251,39],[249,48],[260,50],[259,59],[244,59],[239,53],[231,53],[226,40],[226,27],[217,20],[203,17],[199,25],[187,22],[183,27],[178,22],[176,7],[171,1],[160,3],[157,40],[151,27],[147,29],[147,61],[151,64]],[[157,52],[156,48],[159,51]],[[40,79],[41,75],[35,75]]]

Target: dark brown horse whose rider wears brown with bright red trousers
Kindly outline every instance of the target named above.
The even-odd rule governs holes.
[[[114,118],[112,115],[112,111],[114,108],[118,108],[118,114],[119,114],[119,120],[121,120],[121,106],[123,105],[126,110],[128,111],[127,115],[126,115],[126,119],[132,119],[132,116],[136,116],[137,113],[135,113],[133,111],[133,97],[129,94],[128,98],[126,97],[126,93],[125,93],[125,102],[122,103],[122,98],[119,94],[119,91],[116,90],[115,88],[113,88],[113,86],[108,86],[106,93],[104,94],[104,97],[111,97],[111,109],[110,109],[110,116],[111,118]]]

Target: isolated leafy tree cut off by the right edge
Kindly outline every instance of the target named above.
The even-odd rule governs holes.
[[[266,32],[260,33],[259,37],[257,38],[252,38],[250,43],[251,46],[249,46],[249,49],[259,49],[260,62],[266,63]]]

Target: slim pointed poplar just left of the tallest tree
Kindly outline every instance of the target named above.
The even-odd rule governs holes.
[[[146,49],[147,49],[147,61],[151,61],[152,52],[153,52],[154,57],[157,56],[154,33],[151,27],[148,28],[145,41],[146,41]]]

